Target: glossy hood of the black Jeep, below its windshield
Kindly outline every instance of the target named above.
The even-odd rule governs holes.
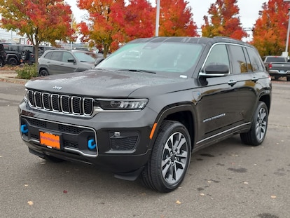
[[[108,71],[92,69],[71,74],[43,76],[28,81],[29,89],[42,90],[49,93],[86,95],[92,97],[129,97],[138,90],[138,95],[150,95],[156,91],[166,92],[166,86],[186,81],[179,77],[165,77],[158,74]],[[160,86],[165,86],[162,89]],[[174,86],[180,90],[182,86]],[[170,88],[170,91],[172,88]],[[145,94],[146,93],[146,94]]]

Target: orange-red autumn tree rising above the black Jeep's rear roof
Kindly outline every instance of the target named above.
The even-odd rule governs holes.
[[[216,0],[209,8],[210,21],[204,16],[205,25],[202,25],[202,36],[227,36],[241,40],[247,37],[247,32],[242,29],[239,17],[237,0]]]

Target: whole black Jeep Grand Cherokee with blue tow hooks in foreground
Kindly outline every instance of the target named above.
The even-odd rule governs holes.
[[[232,135],[265,139],[271,83],[256,48],[215,37],[127,43],[96,69],[25,85],[20,133],[32,154],[111,170],[161,192],[191,153]]]

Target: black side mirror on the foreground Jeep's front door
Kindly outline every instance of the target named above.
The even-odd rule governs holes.
[[[226,64],[209,64],[203,72],[200,72],[202,77],[227,76],[230,74],[230,69]]]

